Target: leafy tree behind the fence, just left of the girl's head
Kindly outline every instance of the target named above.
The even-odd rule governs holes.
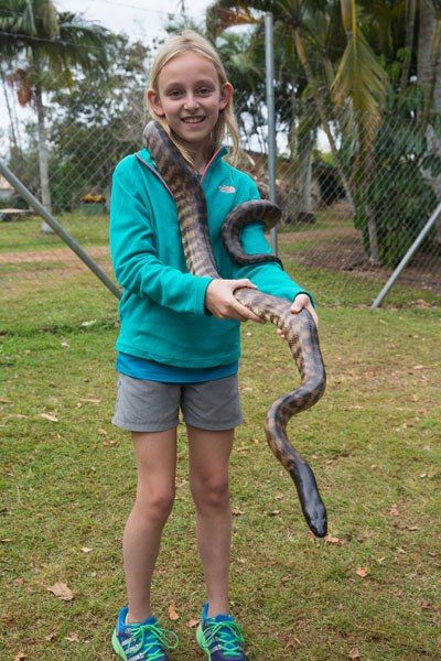
[[[108,197],[116,163],[140,149],[149,58],[147,46],[118,35],[105,80],[82,76],[71,91],[53,96],[49,121],[57,208],[73,208],[92,192]]]

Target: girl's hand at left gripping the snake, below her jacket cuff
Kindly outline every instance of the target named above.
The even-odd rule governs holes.
[[[241,305],[234,292],[241,288],[257,289],[250,280],[212,280],[205,294],[205,306],[219,319],[237,319],[239,322],[265,322],[250,310]]]

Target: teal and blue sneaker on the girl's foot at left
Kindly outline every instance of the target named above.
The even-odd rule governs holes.
[[[173,631],[162,629],[155,617],[139,625],[127,625],[128,608],[121,608],[111,637],[115,652],[123,661],[170,661],[165,650],[175,650],[179,638]]]

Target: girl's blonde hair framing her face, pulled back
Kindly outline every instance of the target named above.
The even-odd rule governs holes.
[[[220,88],[225,83],[227,83],[228,79],[224,65],[222,64],[222,61],[212,44],[197,32],[194,32],[193,30],[183,30],[183,32],[180,34],[176,34],[168,40],[161,46],[154,57],[152,67],[150,69],[149,87],[154,89],[157,95],[159,95],[158,79],[161,71],[171,59],[182,55],[183,53],[194,53],[208,59],[216,69]],[[153,119],[162,124],[171,140],[181,151],[184,159],[193,165],[193,159],[190,152],[183,147],[179,138],[172,133],[166,119],[164,117],[155,116],[151,108],[149,108],[149,111]],[[219,111],[216,126],[212,131],[213,149],[222,143],[227,134],[229,134],[233,141],[233,148],[228,154],[228,161],[236,164],[240,160],[240,145],[239,129],[237,127],[237,121],[233,109],[233,99],[229,99],[226,107]]]

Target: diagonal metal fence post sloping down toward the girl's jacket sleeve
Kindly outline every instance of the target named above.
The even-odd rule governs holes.
[[[15,188],[18,193],[28,202],[28,204],[47,223],[50,227],[63,239],[65,243],[79,257],[79,259],[99,278],[99,280],[111,291],[117,299],[121,297],[120,289],[112,280],[98,267],[89,254],[80,247],[62,225],[47,212],[47,209],[32,195],[32,193],[22,184],[22,182],[0,161],[0,174],[4,176]]]

